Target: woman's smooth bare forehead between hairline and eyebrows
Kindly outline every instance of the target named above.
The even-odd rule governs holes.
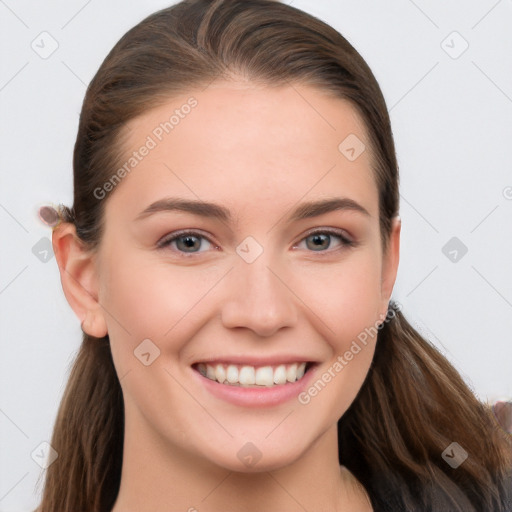
[[[364,123],[348,101],[311,86],[215,82],[132,119],[123,148],[116,208],[166,195],[277,208],[335,194],[377,215]]]

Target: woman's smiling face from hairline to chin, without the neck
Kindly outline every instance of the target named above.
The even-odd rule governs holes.
[[[126,428],[289,464],[354,400],[395,280],[362,122],[311,87],[217,82],[128,128],[95,260]]]

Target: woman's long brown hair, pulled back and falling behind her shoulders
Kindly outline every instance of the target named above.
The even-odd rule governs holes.
[[[185,0],[129,30],[107,55],[82,106],[74,148],[73,207],[62,220],[91,248],[108,197],[94,193],[120,164],[128,121],[173,95],[242,76],[267,86],[308,84],[349,101],[367,128],[386,250],[398,213],[398,165],[382,92],[336,30],[272,0]],[[374,510],[505,511],[511,443],[490,408],[391,302],[374,360],[338,422],[339,460]],[[116,500],[124,408],[108,336],[84,333],[56,418],[42,512],[106,512]],[[458,468],[442,457],[457,442]]]

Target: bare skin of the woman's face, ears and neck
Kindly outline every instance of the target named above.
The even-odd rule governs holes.
[[[340,468],[336,424],[367,375],[376,337],[333,369],[385,318],[398,268],[400,221],[383,253],[364,126],[350,104],[312,87],[217,82],[132,120],[127,158],[192,95],[197,106],[104,199],[97,251],[77,243],[73,225],[54,230],[66,297],[86,332],[108,333],[123,389],[113,512],[371,511]],[[367,148],[353,161],[338,149],[349,134]],[[213,202],[233,219],[176,210],[137,219],[167,197]],[[302,203],[332,198],[367,213],[288,218]],[[157,246],[178,230],[196,232],[194,244],[182,236]],[[256,244],[243,245],[247,237]],[[248,263],[240,246],[262,252]],[[149,365],[134,357],[146,339],[159,350]],[[283,355],[315,362],[304,376],[314,375],[307,403],[237,405],[212,394],[193,367]],[[257,448],[256,464],[239,456],[244,446]]]

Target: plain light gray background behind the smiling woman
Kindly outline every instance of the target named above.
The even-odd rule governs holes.
[[[403,222],[394,298],[479,397],[512,396],[512,1],[288,3],[338,29],[388,102]],[[3,512],[38,504],[31,454],[50,440],[81,340],[55,258],[33,253],[51,237],[37,208],[71,206],[86,84],[129,28],[168,5],[0,0]],[[58,43],[46,59],[31,47],[51,49],[43,31]],[[454,236],[468,248],[456,262],[442,251]]]

